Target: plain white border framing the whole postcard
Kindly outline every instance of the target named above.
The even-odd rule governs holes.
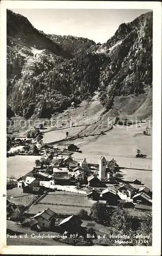
[[[144,246],[6,246],[6,9],[152,9],[153,10],[153,245]],[[99,1],[2,1],[1,17],[1,225],[2,254],[71,254],[71,255],[160,255],[161,192],[161,3]]]

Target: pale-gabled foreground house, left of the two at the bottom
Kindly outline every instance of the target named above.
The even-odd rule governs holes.
[[[38,222],[40,228],[53,229],[56,216],[57,215],[53,210],[47,208],[33,216],[32,219],[35,219]]]

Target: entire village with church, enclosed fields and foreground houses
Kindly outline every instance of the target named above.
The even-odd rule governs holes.
[[[13,203],[25,205],[22,228],[49,230],[69,238],[72,234],[85,237],[88,231],[84,219],[91,219],[95,202],[107,208],[126,208],[133,216],[152,210],[152,191],[140,179],[124,180],[114,158],[100,156],[98,164],[89,163],[86,158],[74,157],[75,152],[80,152],[74,144],[55,146],[30,138],[15,138],[14,146],[22,146],[14,154],[27,154],[24,149],[28,149],[30,154],[41,156],[30,172],[7,183],[8,212]],[[25,198],[28,200],[24,203]],[[7,220],[12,221],[10,212]]]

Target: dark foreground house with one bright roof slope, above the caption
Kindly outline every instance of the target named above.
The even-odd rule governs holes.
[[[78,229],[82,225],[82,221],[78,219],[77,216],[71,215],[68,218],[64,219],[62,222],[58,224],[58,226],[63,231],[72,231]]]

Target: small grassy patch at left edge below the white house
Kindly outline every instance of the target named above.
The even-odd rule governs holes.
[[[34,199],[34,195],[23,193],[22,188],[15,187],[7,190],[7,199],[14,204],[28,205]]]

